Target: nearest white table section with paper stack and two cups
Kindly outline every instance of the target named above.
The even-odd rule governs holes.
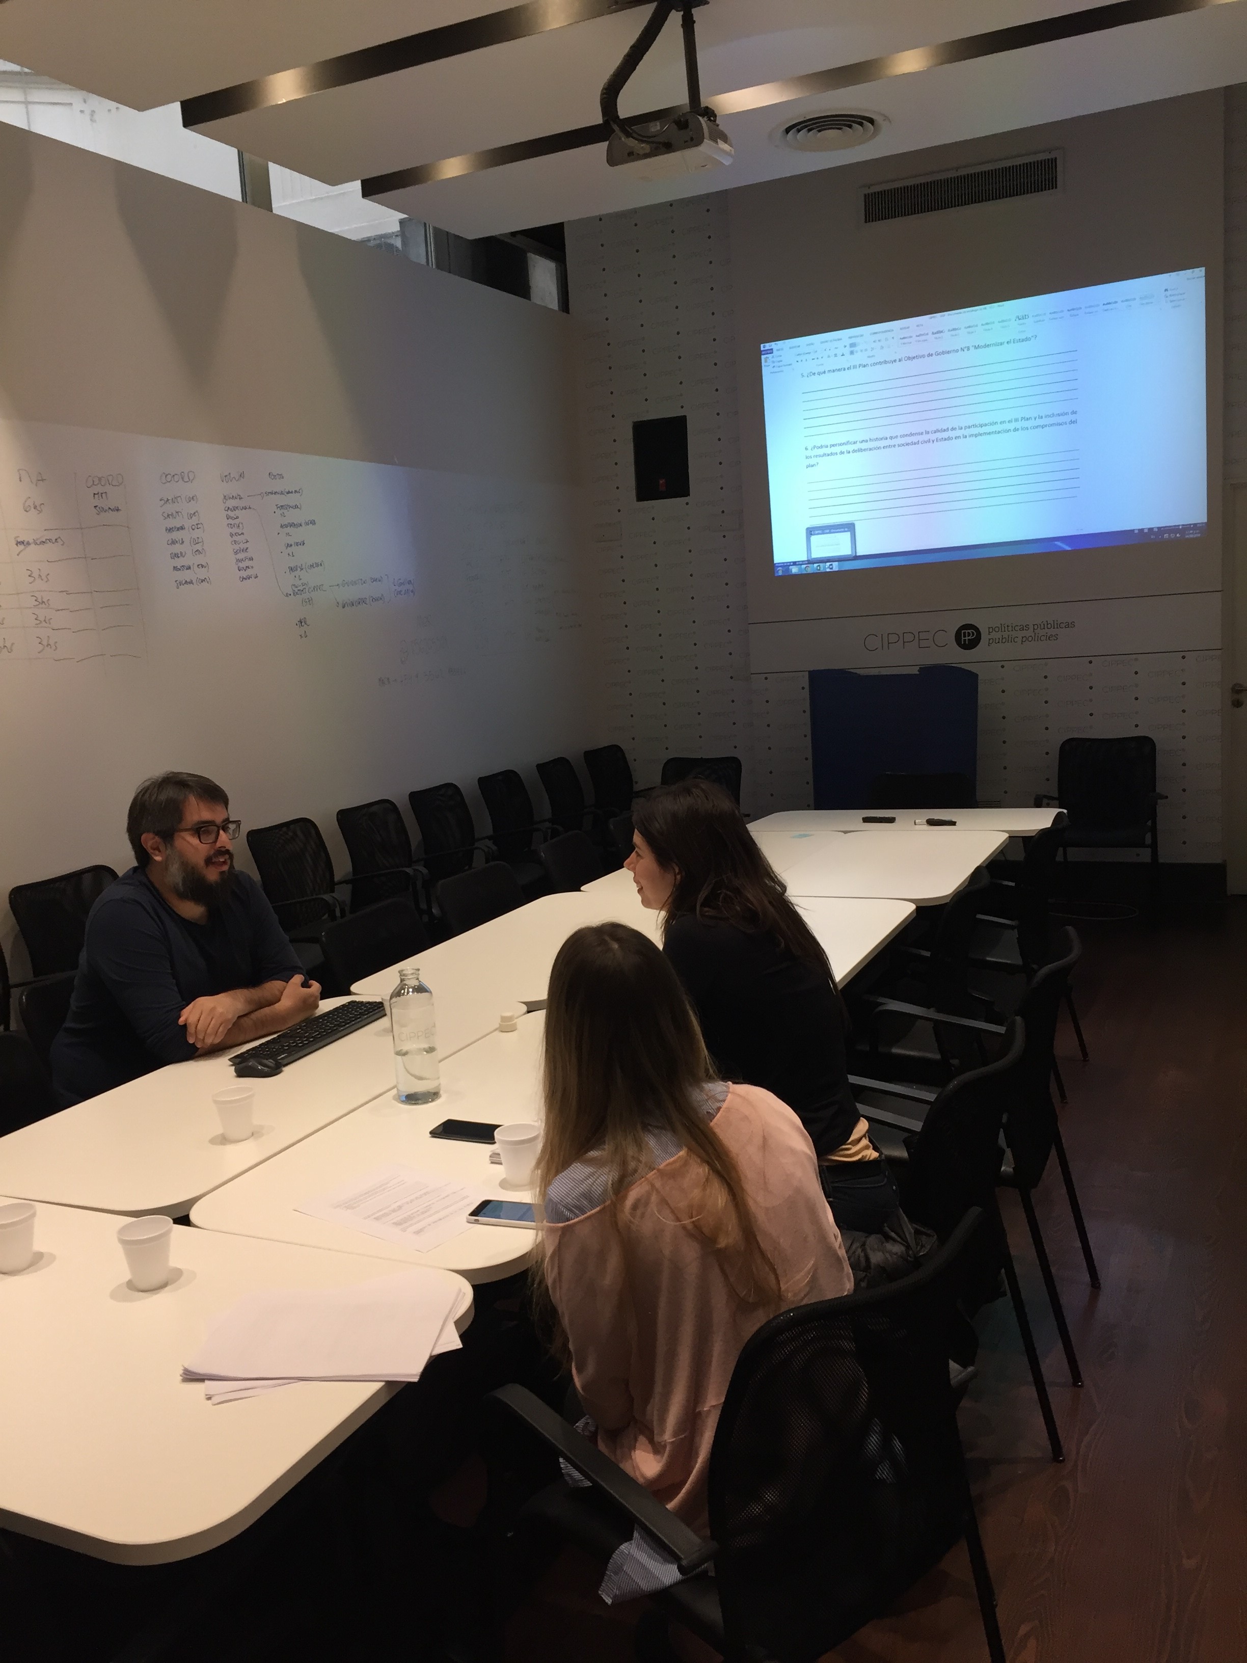
[[[140,1294],[113,1214],[40,1206],[35,1246],[28,1271],[0,1276],[8,1530],[121,1565],[190,1558],[259,1518],[397,1390],[306,1380],[209,1404],[203,1382],[181,1380],[208,1322],[243,1294],[364,1282],[392,1259],[175,1227],[176,1279]],[[462,1332],[472,1290],[459,1290]]]

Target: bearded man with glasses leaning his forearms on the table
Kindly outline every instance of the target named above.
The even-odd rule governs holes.
[[[158,773],[135,792],[136,865],[86,920],[65,1026],[52,1048],[62,1108],[165,1063],[263,1039],[321,996],[264,891],[234,870],[241,822],[201,773]]]

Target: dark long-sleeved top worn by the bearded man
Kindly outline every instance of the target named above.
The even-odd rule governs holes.
[[[244,871],[219,913],[196,925],[131,866],[86,920],[70,1014],[52,1046],[58,1104],[67,1109],[196,1056],[178,1024],[191,999],[301,973],[264,891]]]

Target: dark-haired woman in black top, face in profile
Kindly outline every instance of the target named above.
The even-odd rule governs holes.
[[[710,780],[632,805],[627,868],[662,913],[663,953],[725,1079],[793,1108],[841,1231],[881,1231],[900,1207],[848,1084],[845,1004],[828,956],[732,797]]]

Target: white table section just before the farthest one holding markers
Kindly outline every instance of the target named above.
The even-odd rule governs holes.
[[[795,841],[803,833],[788,833]],[[1004,832],[943,833],[923,827],[880,827],[853,833],[813,833],[811,853],[785,866],[793,898],[810,895],[890,895],[914,906],[951,900],[971,875],[1009,841]]]

